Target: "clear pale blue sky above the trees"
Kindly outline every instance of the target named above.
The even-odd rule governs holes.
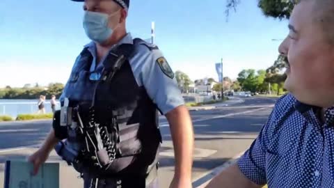
[[[225,15],[225,0],[132,0],[127,31],[150,38],[170,67],[192,80],[218,79],[215,63],[223,58],[223,76],[236,79],[243,69],[269,68],[288,33],[287,20],[262,15],[257,0],[241,0]],[[0,87],[65,84],[75,58],[90,40],[82,27],[83,3],[70,0],[1,0]]]

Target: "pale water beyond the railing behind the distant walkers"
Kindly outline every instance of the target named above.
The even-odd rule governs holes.
[[[8,115],[16,118],[17,114],[37,113],[38,100],[1,100],[0,99],[0,115]],[[57,101],[56,109],[60,109]],[[45,102],[45,113],[52,112],[50,101]]]

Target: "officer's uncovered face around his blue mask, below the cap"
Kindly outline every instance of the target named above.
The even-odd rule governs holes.
[[[85,0],[84,10],[112,15],[109,17],[109,27],[112,29],[122,22],[123,9],[113,0]]]

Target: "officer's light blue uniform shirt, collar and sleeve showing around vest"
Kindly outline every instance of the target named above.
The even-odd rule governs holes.
[[[127,33],[127,35],[116,45],[113,45],[111,49],[122,44],[133,44],[133,38],[130,33]],[[90,42],[85,47],[88,47],[88,51],[93,55],[93,62],[90,66],[90,79],[100,79],[103,70],[102,62],[105,57],[102,58],[101,63],[97,65],[95,43]],[[80,56],[77,60],[79,58]],[[138,86],[145,87],[148,95],[152,101],[157,104],[157,107],[162,113],[166,114],[184,104],[175,75],[159,49],[150,50],[145,45],[136,45],[134,56],[129,58],[129,63]]]

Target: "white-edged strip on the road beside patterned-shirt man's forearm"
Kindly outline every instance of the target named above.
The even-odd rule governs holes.
[[[227,162],[224,162],[221,166],[217,166],[216,168],[202,175],[202,177],[197,178],[196,180],[193,181],[193,187],[204,188],[209,184],[210,180],[212,180],[214,177],[216,177],[216,175],[219,175],[223,170],[227,169],[229,166],[237,162],[237,160],[243,154],[244,152],[235,155],[232,159],[228,160]]]

